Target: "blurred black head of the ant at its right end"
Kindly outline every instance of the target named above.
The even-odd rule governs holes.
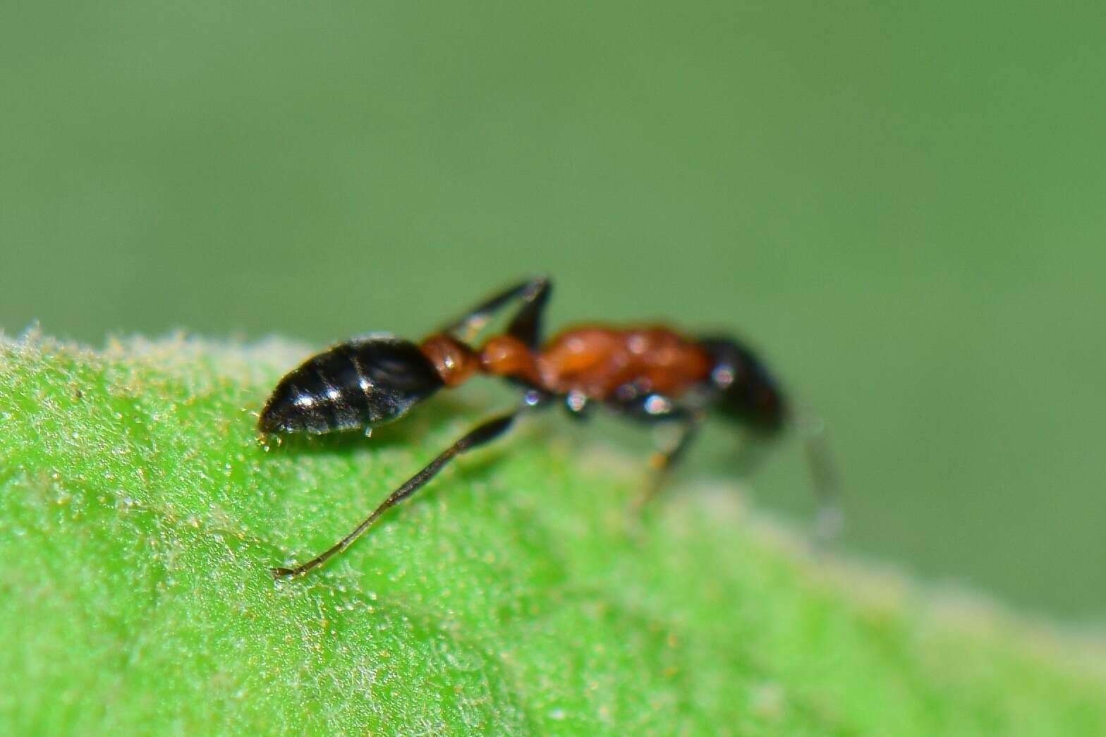
[[[783,428],[787,403],[783,392],[752,351],[740,343],[708,338],[699,341],[713,359],[710,382],[719,393],[718,408],[764,433]]]

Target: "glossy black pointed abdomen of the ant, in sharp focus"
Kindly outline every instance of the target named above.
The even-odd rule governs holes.
[[[262,433],[322,435],[398,419],[441,388],[417,345],[390,335],[340,343],[276,384],[258,421]]]

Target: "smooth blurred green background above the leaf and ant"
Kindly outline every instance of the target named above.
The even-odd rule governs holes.
[[[0,326],[418,335],[546,271],[553,324],[761,346],[832,426],[847,550],[1102,621],[1104,29],[1098,3],[9,0]],[[734,470],[711,435],[685,478]],[[754,485],[808,517],[793,443]]]

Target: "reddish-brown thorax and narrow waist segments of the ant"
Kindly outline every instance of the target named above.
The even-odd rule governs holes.
[[[420,347],[449,386],[480,372],[593,399],[611,398],[622,386],[676,397],[705,381],[713,365],[697,343],[661,326],[578,325],[538,351],[510,335],[495,335],[473,351],[444,333],[430,335]]]

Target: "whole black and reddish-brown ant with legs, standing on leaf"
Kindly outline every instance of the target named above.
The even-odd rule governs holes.
[[[687,450],[708,409],[764,437],[778,436],[794,419],[761,361],[731,339],[687,338],[661,325],[586,324],[565,329],[543,344],[542,314],[551,289],[545,277],[529,279],[476,305],[420,344],[369,333],[307,359],[280,380],[258,422],[264,434],[371,429],[477,373],[503,376],[523,394],[519,407],[484,421],[442,450],[332,548],[295,568],[274,568],[274,575],[306,573],[345,550],[446,464],[500,437],[528,409],[561,402],[570,415],[584,417],[602,405],[641,422],[678,424],[675,444],[651,458],[657,473],[646,498]],[[512,302],[521,307],[507,331],[472,347],[476,334]],[[807,433],[808,440],[820,429]],[[832,534],[828,528],[837,522],[831,504],[836,487],[833,466],[821,443],[807,443],[807,459],[823,499],[820,521]]]

